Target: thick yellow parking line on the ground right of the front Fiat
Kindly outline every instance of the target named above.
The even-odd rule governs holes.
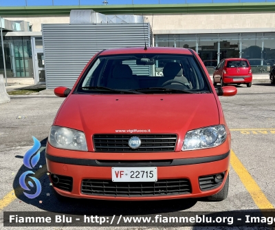
[[[274,209],[273,205],[270,203],[269,200],[267,200],[259,185],[257,185],[256,181],[252,178],[248,170],[245,169],[244,165],[241,163],[239,158],[237,158],[232,149],[230,163],[234,171],[236,171],[236,174],[241,179],[241,182],[243,182],[245,189],[248,190],[250,196],[252,196],[252,199],[259,207],[259,209]]]

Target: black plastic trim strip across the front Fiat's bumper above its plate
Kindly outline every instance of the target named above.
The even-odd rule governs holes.
[[[179,165],[195,165],[202,163],[210,163],[227,158],[230,154],[228,151],[225,154],[218,156],[206,156],[200,158],[186,158],[174,160],[151,160],[151,162],[144,162],[144,160],[92,160],[80,158],[65,158],[60,156],[52,156],[45,153],[45,157],[56,163],[63,163],[68,165],[85,165],[96,167],[165,167],[165,166],[179,166]],[[149,161],[149,160],[148,160]]]

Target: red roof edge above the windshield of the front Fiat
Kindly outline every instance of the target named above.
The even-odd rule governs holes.
[[[173,48],[173,47],[148,47],[144,50],[144,47],[134,47],[134,48],[117,48],[104,50],[100,53],[102,55],[113,55],[113,54],[189,54],[192,55],[190,50],[185,48]]]

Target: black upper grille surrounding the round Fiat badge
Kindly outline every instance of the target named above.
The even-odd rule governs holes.
[[[138,149],[131,149],[128,140],[138,136],[142,142]],[[122,151],[174,151],[177,142],[175,134],[96,134],[94,147],[96,151],[122,152]]]

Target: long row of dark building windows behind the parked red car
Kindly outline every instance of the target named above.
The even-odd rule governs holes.
[[[209,74],[222,59],[248,59],[254,74],[267,74],[275,64],[275,32],[232,34],[157,34],[155,46],[195,50]],[[212,66],[213,65],[213,66]]]

